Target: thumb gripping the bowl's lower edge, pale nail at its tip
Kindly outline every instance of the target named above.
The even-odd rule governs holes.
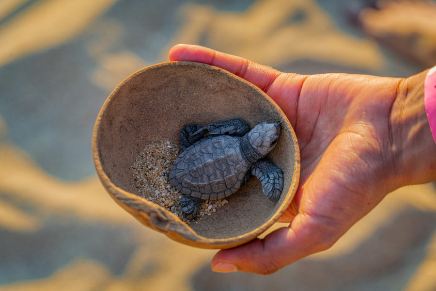
[[[305,215],[298,214],[290,227],[279,228],[264,239],[220,250],[212,259],[215,272],[272,274],[282,267],[329,248],[337,240]]]

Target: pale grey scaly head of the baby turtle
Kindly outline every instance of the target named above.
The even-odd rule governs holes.
[[[280,123],[262,122],[247,133],[250,145],[262,156],[276,146],[280,135]]]

